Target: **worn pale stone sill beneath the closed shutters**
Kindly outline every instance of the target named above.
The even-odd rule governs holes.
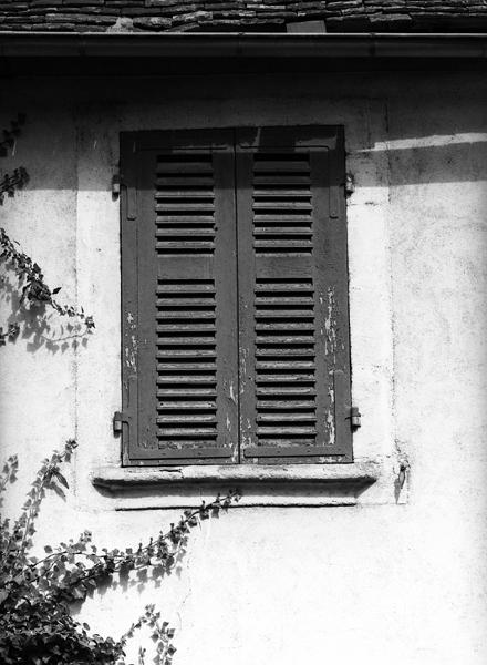
[[[353,505],[381,473],[377,462],[351,464],[101,467],[92,483],[118,509],[191,505],[229,489],[240,505]],[[151,501],[148,499],[151,498]],[[132,505],[133,504],[133,505]]]

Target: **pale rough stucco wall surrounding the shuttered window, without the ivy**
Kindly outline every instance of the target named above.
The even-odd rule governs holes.
[[[22,79],[3,88],[2,124],[18,110],[28,124],[2,166],[25,165],[31,182],[0,208],[0,224],[44,267],[50,285],[63,286],[60,296],[96,323],[85,340],[54,315],[43,329],[21,314],[19,339],[0,349],[1,449],[18,452],[21,464],[7,510],[18,510],[42,457],[68,437],[80,443],[69,473],[73,491],[65,503],[49,499],[40,546],[84,528],[102,545],[137,544],[178,514],[172,505],[197,503],[200,494],[110,493],[90,480],[120,459],[111,426],[121,392],[120,204],[111,195],[118,132],[344,124],[355,180],[350,307],[363,427],[354,451],[356,460],[377,463],[380,480],[356,505],[319,505],[331,501],[304,495],[292,499],[300,507],[263,505],[266,492],[257,493],[251,505],[193,534],[179,577],[142,594],[108,590],[85,603],[90,623],[117,634],[155,602],[177,628],[175,665],[484,664],[481,78]],[[1,321],[17,311],[14,298],[1,294]],[[402,459],[411,473],[397,497]]]

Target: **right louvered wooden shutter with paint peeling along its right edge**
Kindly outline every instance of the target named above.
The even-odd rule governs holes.
[[[352,461],[339,127],[237,133],[241,459]]]

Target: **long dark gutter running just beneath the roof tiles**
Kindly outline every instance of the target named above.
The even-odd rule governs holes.
[[[0,32],[0,57],[487,59],[487,33]]]

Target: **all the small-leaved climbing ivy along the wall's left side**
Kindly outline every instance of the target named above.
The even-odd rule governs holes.
[[[11,129],[3,131],[0,156],[7,156],[20,135],[25,116],[19,114]],[[6,196],[29,182],[24,167],[0,176],[0,205]],[[43,316],[45,306],[60,316],[77,318],[86,331],[95,327],[84,309],[63,305],[56,299],[61,287],[50,288],[42,268],[21,250],[17,241],[0,228],[0,263],[13,270],[21,306],[38,307]],[[0,279],[0,288],[2,282]],[[14,340],[20,331],[18,321],[0,327],[0,346]],[[159,530],[146,543],[125,550],[100,548],[92,533],[83,531],[68,542],[45,545],[42,555],[35,554],[34,535],[41,504],[49,492],[65,495],[69,483],[62,472],[76,448],[66,441],[60,452],[45,458],[27,494],[19,518],[11,521],[0,516],[0,663],[1,665],[124,665],[125,647],[135,632],[146,626],[155,643],[155,665],[169,665],[175,647],[174,631],[160,620],[154,605],[117,638],[102,637],[86,623],[73,616],[73,605],[83,602],[101,586],[116,577],[136,576],[144,581],[148,569],[162,577],[174,571],[186,552],[189,533],[203,520],[218,516],[239,500],[237,491],[218,495],[209,504],[186,510],[177,523]],[[18,458],[10,457],[0,473],[0,505],[6,490],[17,480]],[[145,647],[139,648],[138,665],[145,663]]]

